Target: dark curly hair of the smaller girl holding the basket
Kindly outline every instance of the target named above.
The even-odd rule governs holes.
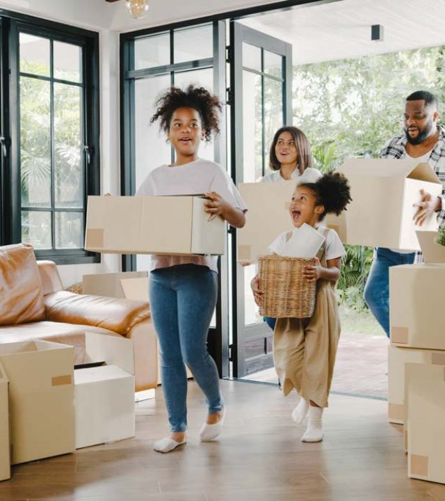
[[[316,205],[324,205],[325,212],[321,214],[322,221],[326,214],[334,213],[339,216],[346,205],[352,202],[348,178],[339,172],[330,172],[323,175],[317,182],[301,183],[298,186],[307,186],[316,198]]]

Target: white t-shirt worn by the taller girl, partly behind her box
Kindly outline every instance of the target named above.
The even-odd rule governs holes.
[[[229,204],[243,212],[247,210],[227,172],[215,162],[204,159],[181,166],[163,165],[155,168],[140,185],[136,195],[197,195],[209,191],[216,191]],[[154,255],[152,269],[168,268],[175,264],[201,264],[218,271],[217,262],[217,256]]]

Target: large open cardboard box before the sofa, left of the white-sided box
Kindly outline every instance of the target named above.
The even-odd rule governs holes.
[[[11,464],[74,451],[74,348],[49,341],[0,344],[9,379]]]

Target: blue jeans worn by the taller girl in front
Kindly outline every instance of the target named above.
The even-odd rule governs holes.
[[[150,311],[159,341],[162,389],[170,429],[187,429],[186,365],[207,399],[209,413],[223,408],[216,363],[207,334],[218,294],[215,271],[180,264],[150,273]]]

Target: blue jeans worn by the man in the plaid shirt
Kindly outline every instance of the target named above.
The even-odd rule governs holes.
[[[389,268],[398,264],[412,264],[416,253],[401,254],[377,247],[369,277],[364,287],[364,300],[375,319],[389,337]]]

